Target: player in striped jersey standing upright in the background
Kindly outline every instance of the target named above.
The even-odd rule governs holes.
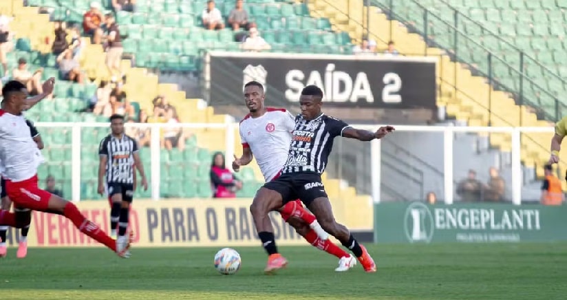
[[[138,142],[124,133],[124,117],[114,114],[110,117],[111,134],[100,141],[98,154],[98,193],[103,195],[105,188],[112,202],[110,210],[111,236],[118,237],[116,243],[126,244],[129,221],[129,209],[134,193],[134,172],[138,170],[142,186],[146,191],[148,183],[144,166],[140,160]],[[103,179],[106,177],[106,186]]]

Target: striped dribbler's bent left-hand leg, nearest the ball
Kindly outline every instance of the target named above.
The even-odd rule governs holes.
[[[270,211],[275,211],[280,208],[282,202],[281,195],[277,191],[262,187],[257,191],[250,205],[250,213],[252,213],[252,217],[254,218],[258,237],[269,255],[268,264],[264,269],[266,274],[272,274],[272,272],[276,270],[285,268],[288,264],[287,259],[277,252],[274,229],[272,228],[272,222],[268,215]]]

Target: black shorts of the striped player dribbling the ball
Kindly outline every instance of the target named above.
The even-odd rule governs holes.
[[[284,205],[299,199],[303,204],[309,206],[319,197],[328,197],[325,186],[321,182],[321,175],[318,173],[283,173],[279,178],[266,182],[264,187],[277,191],[284,200]]]

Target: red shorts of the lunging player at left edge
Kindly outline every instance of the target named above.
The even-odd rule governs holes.
[[[20,182],[6,180],[6,192],[14,207],[29,208],[33,211],[47,211],[52,194],[37,186],[37,175]]]

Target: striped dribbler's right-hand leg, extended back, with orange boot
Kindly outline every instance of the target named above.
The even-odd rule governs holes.
[[[359,262],[364,267],[366,272],[376,272],[376,264],[374,259],[370,257],[366,248],[356,242],[356,239],[350,234],[348,228],[339,224],[334,219],[332,207],[329,199],[326,197],[319,197],[313,200],[309,206],[309,210],[317,217],[319,223],[330,235],[339,239],[343,246],[349,248],[354,256],[359,259]]]

